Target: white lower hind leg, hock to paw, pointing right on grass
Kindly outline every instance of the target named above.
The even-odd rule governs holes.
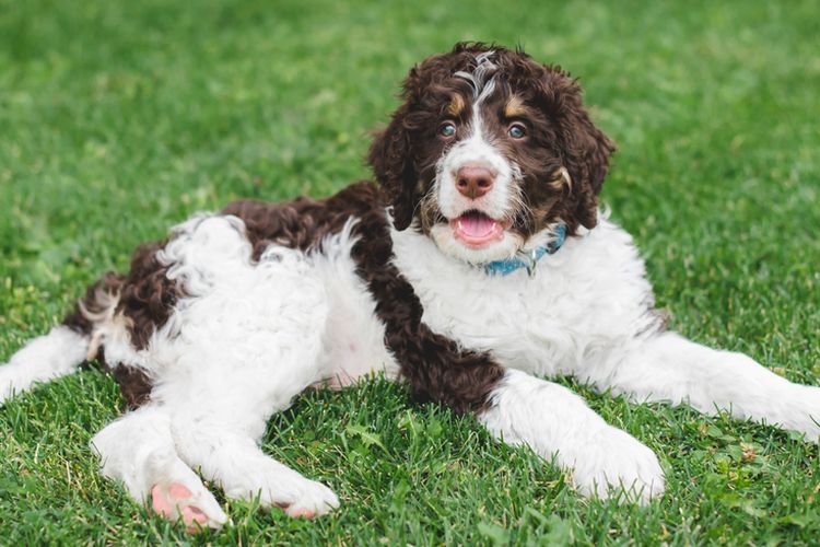
[[[229,498],[258,497],[262,507],[308,519],[339,507],[328,487],[266,455],[244,429],[220,424],[218,416],[195,414],[180,415],[172,424],[179,455],[218,482]]]

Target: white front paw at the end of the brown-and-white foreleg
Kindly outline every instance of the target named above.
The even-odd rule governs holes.
[[[585,496],[645,504],[664,493],[657,456],[629,433],[607,428],[573,465],[573,481]]]

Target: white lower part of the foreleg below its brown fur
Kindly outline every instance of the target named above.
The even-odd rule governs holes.
[[[570,389],[508,370],[479,420],[513,445],[572,469],[585,494],[626,494],[645,502],[664,491],[655,454],[629,433],[609,426]]]

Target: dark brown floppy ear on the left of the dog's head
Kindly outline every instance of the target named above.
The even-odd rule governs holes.
[[[393,224],[399,231],[412,222],[417,201],[418,175],[410,154],[410,133],[406,127],[409,110],[406,103],[393,114],[390,125],[376,135],[367,153],[367,163],[390,200]]]

